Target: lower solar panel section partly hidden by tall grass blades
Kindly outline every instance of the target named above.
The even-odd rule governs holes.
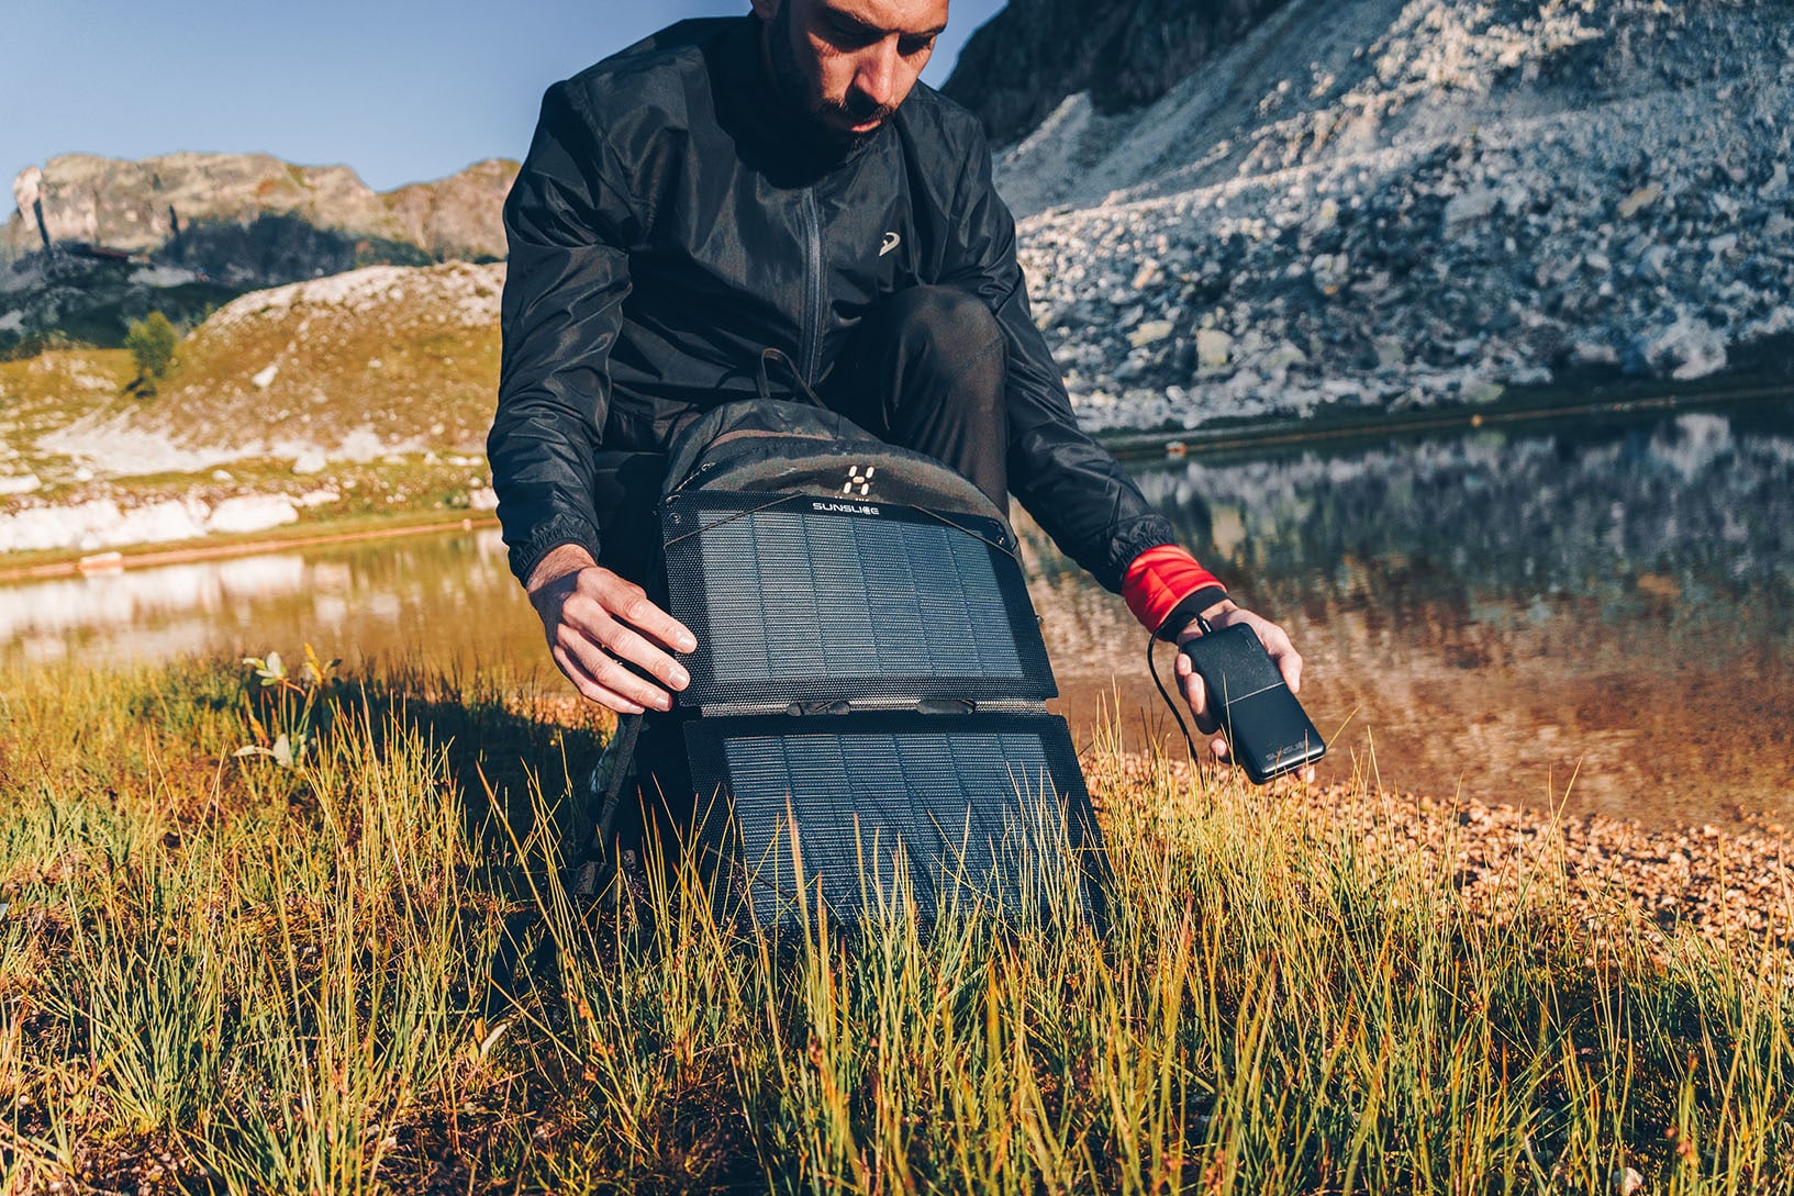
[[[850,714],[694,719],[700,796],[728,798],[705,846],[745,880],[762,925],[802,909],[838,918],[893,907],[924,918],[994,900],[1091,911],[1100,836],[1064,719],[1048,714]],[[793,834],[795,828],[795,834]]]

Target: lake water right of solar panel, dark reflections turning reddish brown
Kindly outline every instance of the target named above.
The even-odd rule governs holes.
[[[1308,658],[1335,769],[1650,821],[1794,807],[1794,420],[1781,407],[1146,472]],[[1143,637],[1039,536],[1069,705],[1152,708]],[[1340,746],[1340,744],[1337,744]],[[1372,758],[1374,746],[1374,758]]]

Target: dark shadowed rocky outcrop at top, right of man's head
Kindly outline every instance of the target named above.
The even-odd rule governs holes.
[[[1032,133],[1058,102],[1098,111],[1164,95],[1285,0],[1010,0],[960,52],[942,91],[996,143]]]

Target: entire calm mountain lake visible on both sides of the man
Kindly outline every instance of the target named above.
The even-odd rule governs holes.
[[[1290,629],[1333,737],[1324,775],[1649,825],[1794,812],[1789,403],[1134,468],[1234,595]],[[1132,742],[1175,737],[1145,631],[1019,531],[1080,739],[1116,703]],[[0,586],[13,660],[305,642],[565,685],[493,529]]]

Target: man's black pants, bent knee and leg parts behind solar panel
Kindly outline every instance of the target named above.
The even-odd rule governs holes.
[[[981,299],[951,287],[911,287],[867,314],[818,391],[832,411],[879,439],[927,454],[965,475],[1001,511],[1008,509],[1006,364],[1003,330]],[[660,472],[640,463],[626,468],[635,475],[623,477],[619,470],[617,477],[631,491],[630,506],[653,477],[655,493],[646,495],[651,506],[664,461]],[[610,531],[603,563],[664,601],[658,579],[644,576],[651,559],[646,545],[615,540],[612,550]],[[615,531],[628,534],[624,527]],[[628,531],[653,534],[653,520],[635,522]],[[671,852],[709,802],[710,794],[698,794],[698,810],[692,809],[684,721],[675,708],[651,710],[642,723],[635,757],[640,793],[635,802],[624,796],[617,827],[626,843],[651,823],[662,832],[662,848]]]

